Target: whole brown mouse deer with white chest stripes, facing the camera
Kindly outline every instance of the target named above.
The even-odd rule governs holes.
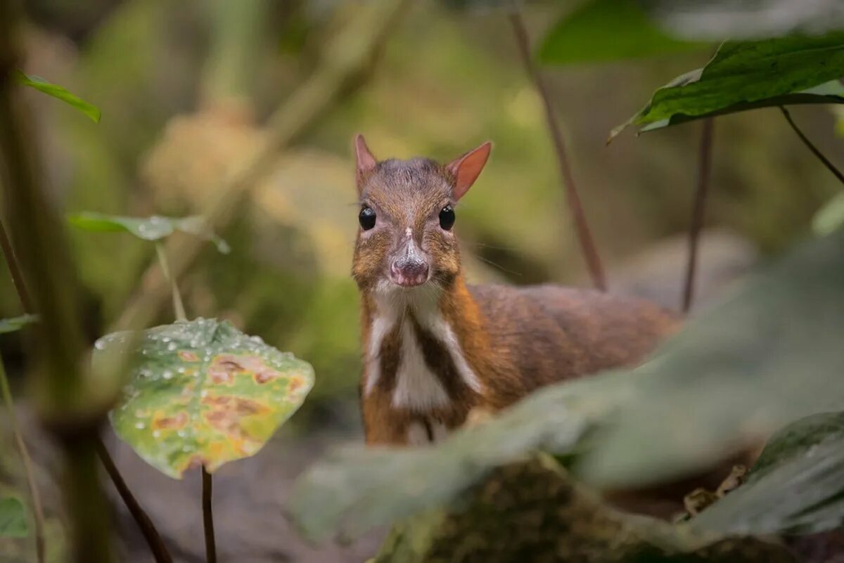
[[[489,142],[442,166],[377,162],[355,139],[366,442],[435,442],[470,410],[496,411],[543,385],[640,362],[678,319],[646,301],[551,285],[469,286],[454,206]]]

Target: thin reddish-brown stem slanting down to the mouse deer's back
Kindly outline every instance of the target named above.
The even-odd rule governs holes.
[[[574,174],[571,171],[568,152],[565,148],[565,140],[563,139],[560,125],[555,116],[554,105],[551,104],[548,87],[545,85],[542,75],[538,72],[531,58],[530,38],[527,35],[524,20],[522,20],[522,13],[514,6],[509,14],[509,18],[513,28],[513,35],[516,36],[516,44],[519,55],[522,58],[522,64],[527,71],[527,75],[533,81],[539,97],[542,99],[545,109],[545,121],[548,122],[548,128],[551,131],[551,139],[554,141],[554,147],[557,153],[557,163],[560,166],[560,175],[565,185],[565,198],[568,202],[569,209],[571,209],[571,215],[574,217],[577,239],[581,244],[583,258],[586,260],[589,276],[592,278],[592,285],[601,291],[606,291],[607,280],[603,274],[603,265],[601,265],[598,250],[595,248],[595,242],[589,230],[589,223],[587,222],[586,213],[583,211],[580,194],[577,192]]]

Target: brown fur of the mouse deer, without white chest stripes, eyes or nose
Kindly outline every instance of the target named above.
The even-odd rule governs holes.
[[[468,190],[489,147],[482,159],[475,156],[476,149],[441,166],[425,158],[376,163],[362,137],[357,143],[360,204],[377,214],[375,228],[359,230],[352,268],[362,293],[364,350],[370,348],[377,292],[436,296],[436,306],[481,382],[480,392],[463,382],[446,345],[420,324],[414,308],[406,308],[403,319],[411,323],[425,364],[446,389],[449,406],[419,412],[392,405],[402,351],[399,322],[382,340],[377,358],[380,378],[374,389],[365,393],[370,377],[366,370],[361,381],[367,443],[403,444],[414,421],[429,433],[436,421],[451,429],[461,426],[475,407],[500,410],[543,385],[636,364],[677,327],[674,314],[638,299],[549,285],[467,286],[457,240],[440,227],[438,216],[444,206],[457,206],[453,195]],[[466,158],[468,168],[463,166]],[[430,280],[404,289],[390,286],[387,272],[406,244],[408,228],[428,260]]]

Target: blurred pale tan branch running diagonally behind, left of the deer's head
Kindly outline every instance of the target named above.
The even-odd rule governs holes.
[[[334,36],[325,52],[325,63],[295,90],[268,121],[267,136],[236,172],[214,186],[214,194],[203,209],[208,227],[222,230],[251,193],[252,187],[273,170],[281,150],[288,147],[308,126],[332,105],[349,84],[367,69],[408,0],[383,0],[361,5],[347,29]],[[361,39],[363,38],[363,39]],[[170,274],[178,281],[197,259],[203,241],[195,237],[169,240]],[[150,265],[143,275],[142,289],[127,303],[120,319],[109,332],[131,326],[148,326],[168,298],[169,284],[160,265]]]

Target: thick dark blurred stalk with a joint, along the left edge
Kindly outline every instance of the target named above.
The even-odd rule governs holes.
[[[109,517],[95,459],[97,429],[106,404],[101,394],[91,393],[79,368],[84,340],[73,265],[57,213],[41,187],[31,121],[12,78],[20,60],[19,13],[12,0],[0,0],[0,183],[12,239],[19,243],[15,249],[19,265],[32,306],[41,316],[34,327],[37,353],[31,356],[39,361],[32,371],[35,405],[62,449],[69,560],[108,563]]]

